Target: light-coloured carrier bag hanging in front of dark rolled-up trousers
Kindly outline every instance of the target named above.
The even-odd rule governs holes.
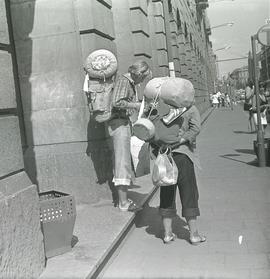
[[[162,148],[158,151],[158,156],[154,162],[152,170],[152,182],[155,186],[171,186],[177,183],[178,168],[172,157],[172,149]]]

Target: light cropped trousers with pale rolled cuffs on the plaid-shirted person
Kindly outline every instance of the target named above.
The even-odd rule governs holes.
[[[108,132],[113,144],[113,183],[115,186],[129,186],[132,181],[130,121],[122,118],[110,120],[108,123]]]

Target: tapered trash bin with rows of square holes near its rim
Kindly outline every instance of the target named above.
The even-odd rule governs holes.
[[[46,257],[70,251],[76,219],[74,197],[58,191],[42,192],[39,205]]]

